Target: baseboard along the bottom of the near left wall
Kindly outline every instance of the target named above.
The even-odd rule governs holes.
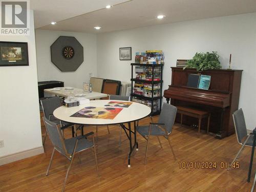
[[[0,166],[7,164],[7,163],[11,163],[14,161],[18,161],[21,159],[25,159],[28,157],[32,157],[35,155],[39,155],[45,153],[44,147],[40,146],[40,147],[36,147],[36,148],[31,148],[31,150],[26,150],[23,152],[18,152],[18,153],[14,153],[14,154],[10,154],[10,155],[6,155],[3,157],[0,157]]]

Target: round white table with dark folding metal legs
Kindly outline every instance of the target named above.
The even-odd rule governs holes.
[[[108,105],[110,101],[119,101],[119,102],[131,102],[132,104],[128,108],[119,108],[115,106],[104,106]],[[90,107],[92,109],[90,109]],[[102,111],[105,111],[106,108],[119,108],[122,109],[113,119],[101,119],[101,118],[93,118],[94,116],[98,116],[98,112],[94,112],[94,107],[96,108],[104,108]],[[79,112],[80,110],[87,108],[88,111],[84,114],[88,115],[86,117],[71,117],[73,114]],[[108,111],[108,109],[107,109]],[[137,102],[132,101],[120,101],[120,100],[91,100],[88,104],[82,104],[79,106],[74,106],[71,108],[67,108],[66,106],[60,106],[57,108],[53,115],[62,120],[75,124],[81,125],[109,125],[109,124],[120,124],[122,129],[125,131],[127,138],[130,141],[130,153],[128,155],[128,167],[131,167],[131,155],[136,147],[138,149],[138,142],[136,139],[136,121],[143,119],[144,117],[150,115],[151,109]],[[79,115],[79,114],[78,114]],[[88,117],[91,118],[88,118]],[[134,131],[131,130],[131,123],[134,122]],[[127,123],[128,127],[125,127],[123,123]],[[82,129],[83,130],[83,129]],[[128,132],[128,133],[127,133]],[[83,132],[82,132],[83,134]],[[132,134],[134,135],[134,145],[132,144]]]

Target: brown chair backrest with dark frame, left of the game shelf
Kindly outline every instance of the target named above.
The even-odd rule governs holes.
[[[102,84],[101,93],[109,95],[120,95],[121,81],[104,79]],[[109,99],[109,97],[104,97],[102,99]]]

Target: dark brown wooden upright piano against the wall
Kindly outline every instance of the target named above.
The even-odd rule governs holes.
[[[167,103],[187,106],[211,113],[209,132],[217,138],[224,138],[234,133],[232,114],[238,110],[240,85],[243,70],[207,70],[172,68],[172,84],[164,90]],[[186,87],[189,74],[210,75],[209,90]],[[176,121],[179,122],[179,114]],[[202,120],[206,127],[207,120]],[[183,124],[197,124],[197,119],[184,116]]]

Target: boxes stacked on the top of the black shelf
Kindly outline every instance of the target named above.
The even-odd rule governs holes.
[[[164,55],[162,50],[147,50],[136,52],[135,63],[141,64],[163,64]]]

